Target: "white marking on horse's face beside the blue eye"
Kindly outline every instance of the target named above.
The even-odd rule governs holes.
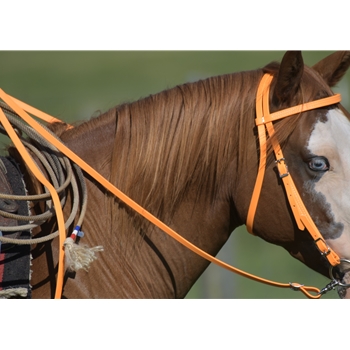
[[[324,156],[330,169],[312,181],[314,200],[323,203],[324,215],[314,220],[327,244],[340,258],[350,260],[350,122],[340,109],[327,113],[327,120],[319,120],[308,143],[310,154]],[[349,268],[350,265],[346,266]],[[344,271],[344,269],[342,269]],[[348,270],[348,269],[347,269]],[[345,271],[344,271],[345,272]],[[343,283],[350,283],[350,270]],[[339,289],[342,298],[350,298],[350,288]]]

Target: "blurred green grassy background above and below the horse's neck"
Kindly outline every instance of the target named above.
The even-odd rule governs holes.
[[[0,88],[67,122],[89,119],[121,103],[212,75],[261,68],[281,51],[0,51]],[[330,54],[303,53],[307,65]],[[334,90],[349,109],[349,74]],[[229,264],[282,283],[318,288],[329,280],[280,247],[233,232],[218,255]],[[263,285],[211,265],[187,298],[305,299],[299,292]],[[323,298],[338,298],[335,291]]]

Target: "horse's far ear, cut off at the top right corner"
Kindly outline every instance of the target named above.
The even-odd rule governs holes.
[[[350,51],[338,51],[327,56],[312,68],[326,81],[329,87],[335,86],[350,66]]]

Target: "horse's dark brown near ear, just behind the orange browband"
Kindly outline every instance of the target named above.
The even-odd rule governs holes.
[[[296,94],[304,71],[304,61],[300,51],[287,51],[283,56],[273,93],[276,105],[291,102]]]

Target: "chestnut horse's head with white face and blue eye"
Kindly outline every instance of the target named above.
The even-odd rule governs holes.
[[[280,66],[270,64],[264,69],[274,76],[270,111],[333,95],[331,88],[341,80],[349,65],[349,52],[334,53],[312,68],[304,66],[300,52],[287,52]],[[349,113],[336,104],[279,120],[274,127],[302,201],[326,244],[343,263],[340,268],[330,267],[307,230],[297,226],[281,174],[271,159],[267,161],[254,233],[269,242],[277,242],[293,257],[327,277],[337,273],[346,283],[349,280],[346,260],[350,259]],[[276,202],[277,198],[282,200]],[[266,203],[280,204],[271,210]],[[341,293],[345,295],[344,289]]]

